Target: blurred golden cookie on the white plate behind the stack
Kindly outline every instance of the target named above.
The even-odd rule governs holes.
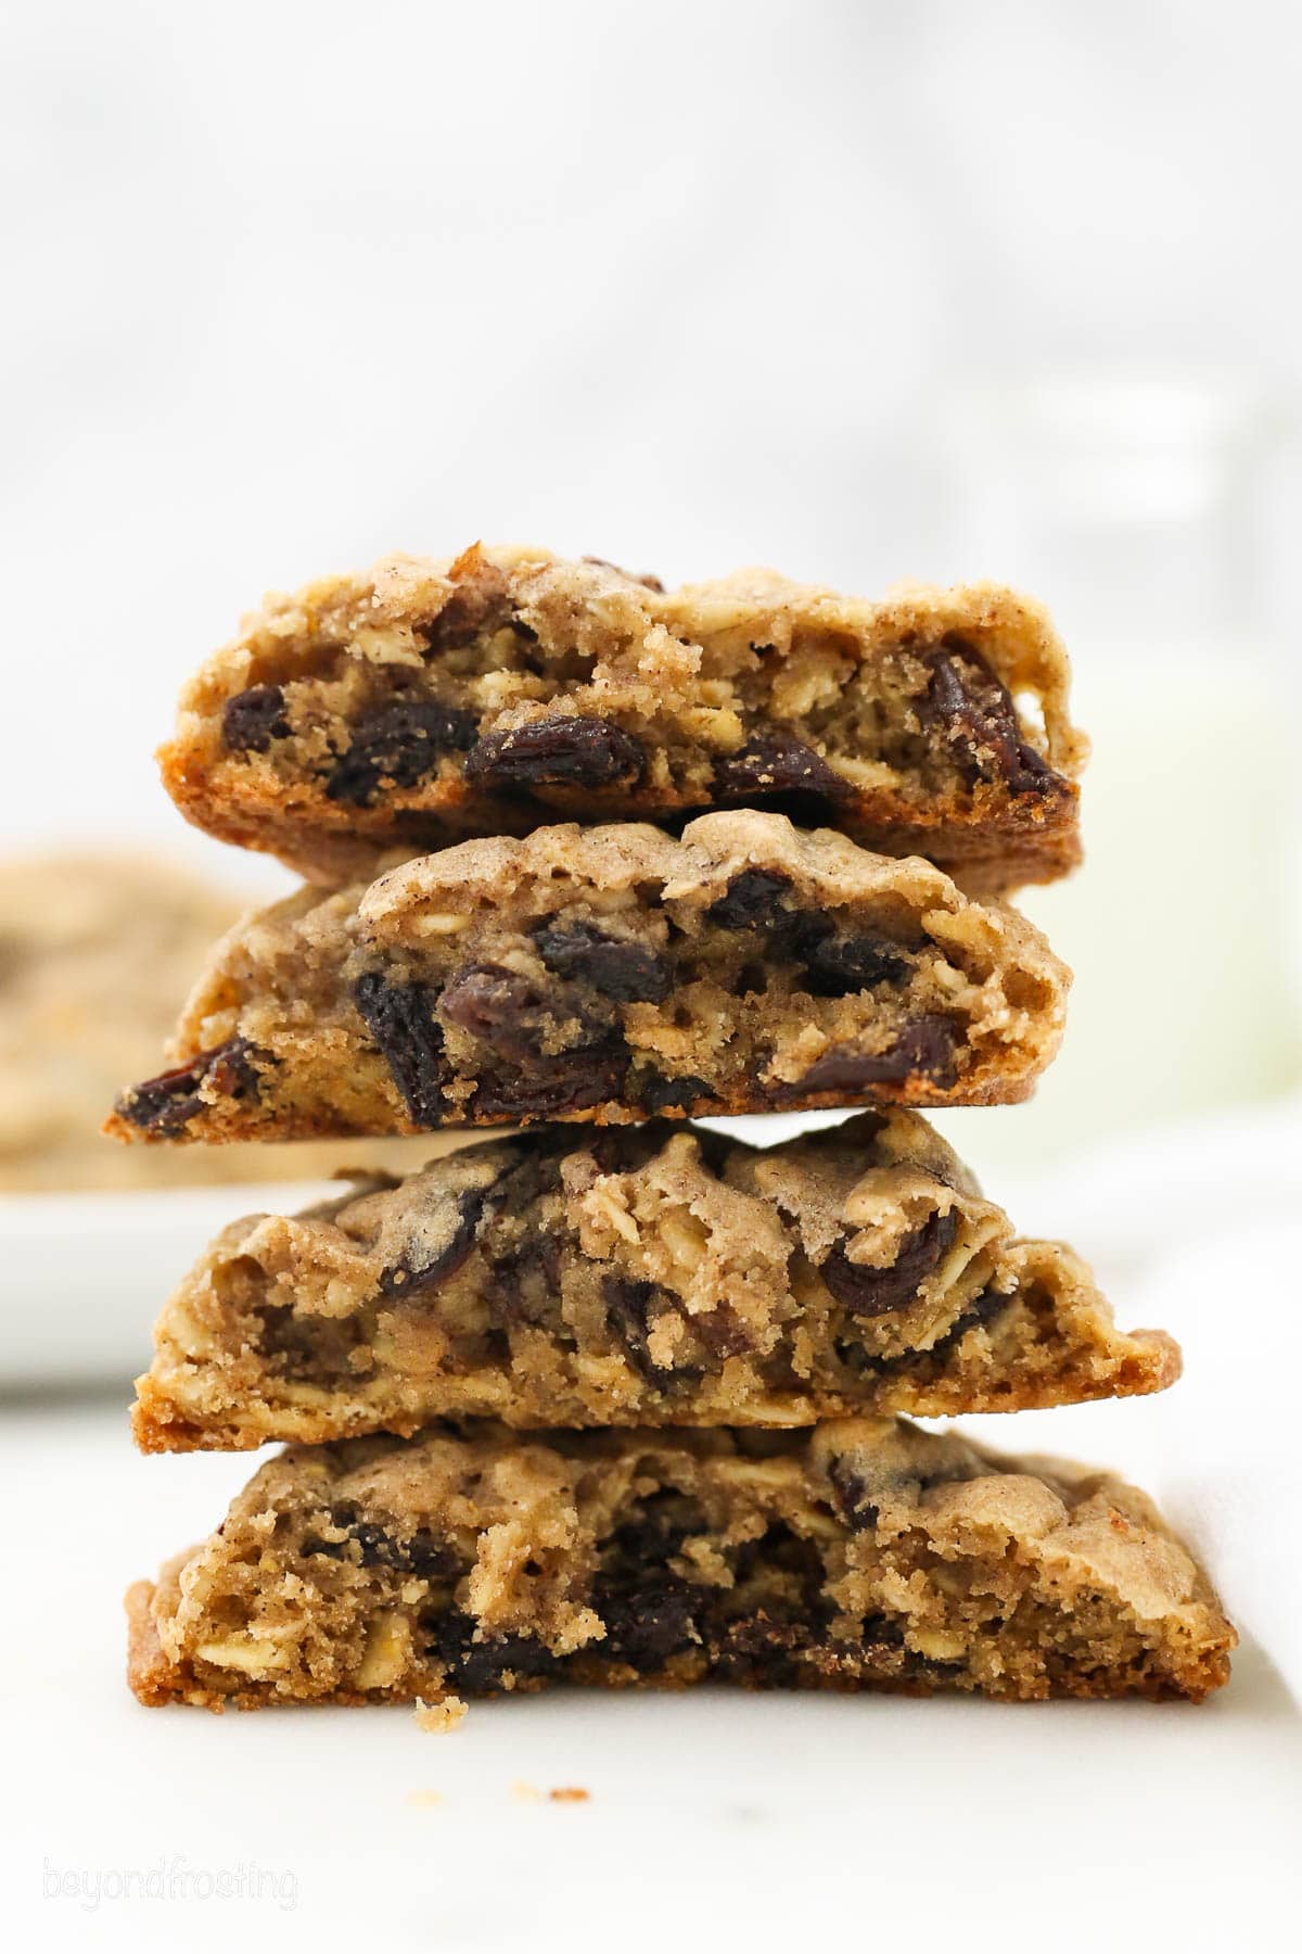
[[[80,1192],[410,1172],[453,1139],[117,1147],[100,1133],[158,1069],[189,987],[240,895],[141,854],[0,860],[0,1190]]]

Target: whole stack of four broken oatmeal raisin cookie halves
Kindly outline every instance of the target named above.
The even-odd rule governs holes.
[[[306,881],[109,1129],[467,1133],[232,1223],[168,1301],[141,1446],[291,1444],[131,1591],[142,1702],[1224,1682],[1142,1493],[902,1417],[1179,1372],[919,1112],[1054,1055],[1068,971],[1001,897],[1074,866],[1081,748],[994,586],[474,547],[277,598],[203,666],[168,789]],[[812,1108],[863,1110],[691,1124]]]

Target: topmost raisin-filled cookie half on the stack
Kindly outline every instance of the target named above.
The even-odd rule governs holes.
[[[316,881],[556,817],[769,803],[990,891],[1079,858],[1066,692],[1044,612],[992,584],[664,590],[476,545],[271,598],[160,758],[191,821]]]

